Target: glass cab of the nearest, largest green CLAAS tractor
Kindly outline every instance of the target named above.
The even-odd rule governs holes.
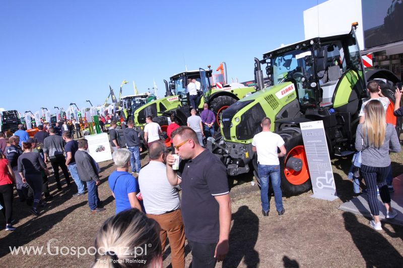
[[[294,84],[302,112],[327,107],[354,113],[359,99],[367,96],[354,29],[349,34],[314,38],[267,52],[261,62],[267,64],[269,86]],[[354,94],[341,99],[337,88],[351,76]]]

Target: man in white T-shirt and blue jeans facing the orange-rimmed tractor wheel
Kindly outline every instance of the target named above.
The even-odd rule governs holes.
[[[270,118],[263,118],[260,124],[262,132],[256,134],[252,140],[252,151],[257,152],[257,171],[260,178],[261,213],[263,216],[268,216],[268,211],[270,210],[270,204],[268,203],[269,176],[272,179],[277,212],[279,215],[283,215],[286,211],[283,208],[283,194],[280,188],[279,162],[279,157],[286,155],[286,148],[284,147],[283,138],[276,133],[270,132],[271,124]],[[280,148],[280,153],[277,152],[277,148]]]

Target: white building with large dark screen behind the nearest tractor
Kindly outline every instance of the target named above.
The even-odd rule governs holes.
[[[305,39],[349,32],[358,22],[362,54],[403,80],[403,0],[329,0],[304,11]]]

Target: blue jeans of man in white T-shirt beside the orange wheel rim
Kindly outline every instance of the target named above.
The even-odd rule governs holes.
[[[260,199],[261,207],[267,212],[270,210],[268,203],[268,177],[272,179],[272,187],[274,191],[274,200],[278,212],[283,210],[283,194],[281,192],[280,165],[257,165],[257,172],[260,178]]]

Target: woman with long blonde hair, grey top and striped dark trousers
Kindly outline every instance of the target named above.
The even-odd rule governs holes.
[[[376,187],[386,207],[386,218],[396,217],[397,212],[390,206],[386,175],[390,168],[389,151],[399,152],[400,143],[394,126],[386,124],[385,111],[378,100],[368,102],[364,112],[365,121],[357,127],[355,147],[361,151],[361,173],[367,186],[368,204],[373,216],[369,224],[375,230],[382,230]]]

